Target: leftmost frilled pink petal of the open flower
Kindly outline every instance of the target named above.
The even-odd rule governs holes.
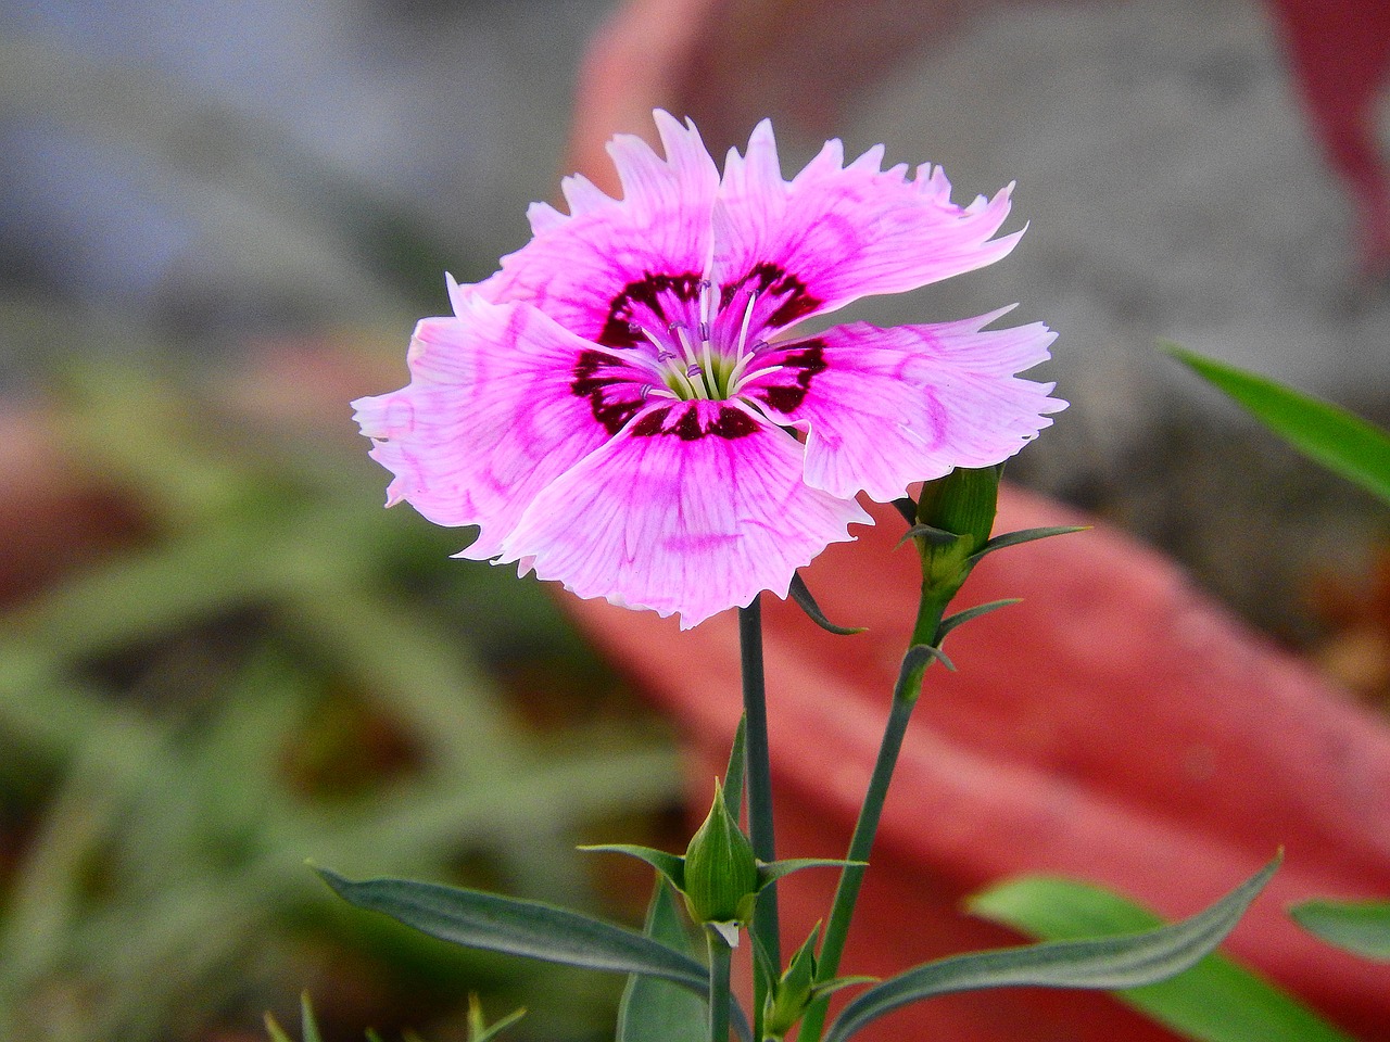
[[[641,402],[631,383],[584,385],[609,356],[535,308],[475,295],[459,304],[459,317],[416,326],[409,386],[353,407],[375,440],[373,458],[396,475],[388,504],[409,502],[441,525],[481,525],[460,556],[484,560],[531,500]],[[616,397],[624,392],[630,408]]]

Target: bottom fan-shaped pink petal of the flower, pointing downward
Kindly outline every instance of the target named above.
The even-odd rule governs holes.
[[[542,579],[688,629],[845,542],[869,515],[802,481],[802,446],[733,402],[662,403],[549,483],[507,536]]]

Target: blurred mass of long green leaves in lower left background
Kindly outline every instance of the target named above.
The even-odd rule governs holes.
[[[363,916],[304,861],[614,914],[574,845],[677,803],[669,736],[537,584],[382,510],[360,439],[225,390],[85,364],[63,397],[139,521],[0,620],[0,1036],[250,1036],[306,986],[329,1039],[464,1038],[470,989],[532,1010],[514,1038],[595,1036],[616,984]]]

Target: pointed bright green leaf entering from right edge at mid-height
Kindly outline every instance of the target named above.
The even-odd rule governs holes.
[[[1159,347],[1304,456],[1390,503],[1390,433],[1268,377],[1205,358],[1176,343],[1159,342]]]

